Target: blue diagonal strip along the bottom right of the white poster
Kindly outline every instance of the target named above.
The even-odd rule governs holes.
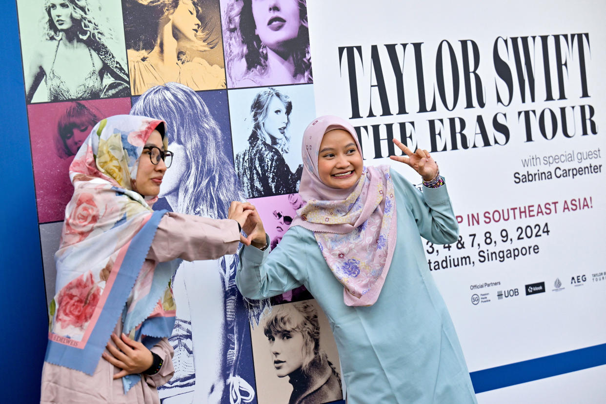
[[[471,372],[476,393],[606,365],[606,343]]]

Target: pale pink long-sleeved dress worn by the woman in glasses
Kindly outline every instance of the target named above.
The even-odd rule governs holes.
[[[162,217],[147,254],[148,260],[165,262],[176,258],[187,261],[218,259],[235,254],[239,243],[238,224],[231,219],[208,219],[187,214],[168,213]],[[116,319],[114,333],[122,333],[122,322]],[[44,362],[41,403],[145,403],[159,404],[156,387],[173,376],[173,347],[163,338],[153,348],[164,361],[158,373],[141,375],[141,380],[124,394],[122,380],[113,380],[116,368],[101,358],[93,376],[64,366]],[[107,349],[106,349],[106,352]]]

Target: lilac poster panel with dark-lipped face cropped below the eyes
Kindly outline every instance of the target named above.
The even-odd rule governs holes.
[[[221,0],[227,84],[311,83],[305,0]]]

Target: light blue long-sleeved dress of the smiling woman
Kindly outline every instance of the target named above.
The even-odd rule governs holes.
[[[398,242],[378,300],[343,302],[343,286],[310,230],[291,227],[271,254],[240,252],[236,285],[250,299],[301,285],[328,317],[341,359],[348,404],[476,403],[461,345],[427,267],[421,236],[454,243],[458,224],[445,185],[421,193],[391,170]]]

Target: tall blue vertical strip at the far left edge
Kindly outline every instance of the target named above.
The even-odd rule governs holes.
[[[0,357],[10,365],[3,366],[9,371],[0,401],[36,403],[40,401],[48,318],[16,2],[2,5],[0,333],[5,343]]]

